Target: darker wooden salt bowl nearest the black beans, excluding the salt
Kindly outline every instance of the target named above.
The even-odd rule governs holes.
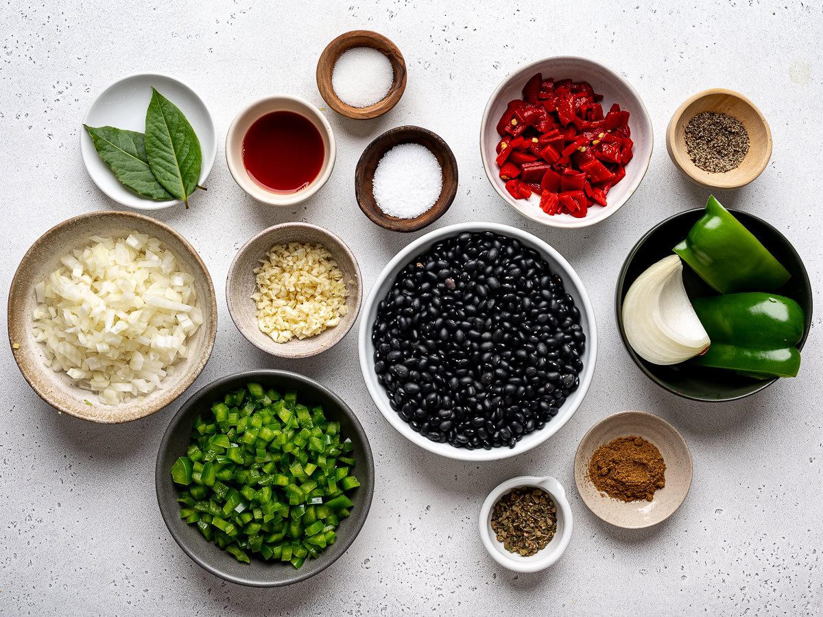
[[[374,193],[372,193],[374,169],[377,169],[380,159],[387,151],[402,143],[417,143],[428,148],[437,157],[437,162],[443,172],[443,188],[435,205],[413,219],[398,219],[395,216],[388,216],[380,210],[377,202],[374,201]],[[366,146],[363,154],[360,155],[360,160],[357,161],[355,170],[357,204],[365,216],[371,219],[371,222],[387,230],[409,232],[421,230],[426,225],[431,225],[449,210],[449,206],[452,205],[457,192],[458,162],[455,160],[449,145],[439,135],[427,131],[425,128],[398,127],[386,131]]]

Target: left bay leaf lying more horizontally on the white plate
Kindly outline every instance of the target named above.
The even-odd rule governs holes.
[[[114,177],[120,182],[143,197],[174,198],[151,173],[146,158],[146,137],[142,132],[114,127],[90,127],[86,124],[83,126],[89,132],[97,154],[109,165]]]

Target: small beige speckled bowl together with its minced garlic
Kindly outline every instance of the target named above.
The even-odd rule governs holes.
[[[261,231],[240,248],[226,278],[226,302],[240,334],[281,358],[307,358],[342,341],[361,297],[351,249],[309,223]]]

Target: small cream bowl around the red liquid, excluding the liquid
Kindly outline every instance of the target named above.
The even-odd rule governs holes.
[[[259,118],[274,111],[291,111],[300,114],[314,124],[314,127],[320,132],[320,137],[323,137],[323,165],[320,167],[320,172],[317,174],[317,178],[309,183],[309,186],[296,193],[272,193],[272,191],[267,191],[254,182],[243,163],[243,141],[246,132]],[[249,193],[251,197],[270,206],[292,206],[317,193],[320,188],[323,188],[323,184],[326,183],[329,176],[332,175],[336,158],[337,146],[334,142],[332,126],[328,123],[326,117],[320,113],[319,109],[309,101],[296,96],[267,96],[254,101],[240,110],[239,114],[232,120],[229,132],[226,133],[226,164],[229,165],[231,177],[235,179],[239,188]]]

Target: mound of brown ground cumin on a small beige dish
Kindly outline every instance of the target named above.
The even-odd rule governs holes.
[[[622,501],[651,501],[666,485],[666,463],[653,443],[642,437],[620,437],[594,451],[588,477],[601,493]]]

